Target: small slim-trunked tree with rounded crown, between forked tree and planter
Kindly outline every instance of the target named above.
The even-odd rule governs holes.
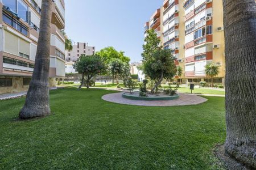
[[[109,71],[112,74],[113,78],[117,80],[117,87],[119,87],[118,75],[122,75],[123,66],[124,63],[121,61],[121,59],[117,58],[112,59],[112,61],[109,64]]]

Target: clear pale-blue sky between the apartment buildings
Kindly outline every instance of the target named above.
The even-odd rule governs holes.
[[[163,0],[66,0],[65,32],[100,50],[114,46],[131,62],[141,60],[144,23]]]

